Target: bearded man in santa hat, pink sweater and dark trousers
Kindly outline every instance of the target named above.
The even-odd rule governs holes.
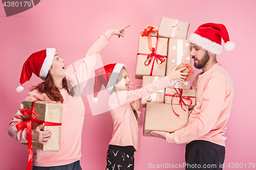
[[[226,27],[205,23],[188,39],[194,66],[202,69],[193,82],[197,90],[196,106],[189,112],[188,126],[174,133],[152,131],[151,136],[170,143],[186,144],[186,169],[222,169],[225,158],[226,124],[230,115],[234,93],[233,82],[216,59],[225,50],[232,51]]]

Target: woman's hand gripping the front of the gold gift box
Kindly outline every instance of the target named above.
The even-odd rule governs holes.
[[[45,124],[39,125],[32,132],[32,140],[35,140],[38,143],[46,144],[48,140],[51,138],[51,131],[41,131],[41,128],[44,127]]]

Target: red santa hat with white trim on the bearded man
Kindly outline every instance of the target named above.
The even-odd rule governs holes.
[[[225,50],[232,51],[236,44],[229,41],[227,29],[220,23],[204,23],[194,33],[190,34],[188,42],[197,44],[211,53],[220,55],[222,53],[221,38],[225,42]]]

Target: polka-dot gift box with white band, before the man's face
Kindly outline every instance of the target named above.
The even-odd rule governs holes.
[[[191,65],[191,46],[187,40],[169,38],[166,75],[181,63]]]

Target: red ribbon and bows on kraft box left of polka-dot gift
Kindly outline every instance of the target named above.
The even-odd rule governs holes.
[[[144,29],[144,31],[141,32],[141,36],[146,36],[147,35],[148,48],[150,48],[150,51],[152,53],[151,54],[145,54],[145,53],[138,53],[137,54],[137,55],[147,56],[147,58],[144,62],[145,65],[150,64],[151,61],[153,60],[150,76],[152,76],[152,74],[153,74],[153,68],[154,68],[155,60],[156,60],[157,64],[162,64],[165,61],[165,58],[167,58],[167,56],[157,54],[159,34],[158,34],[157,29],[155,29],[155,30],[154,29],[155,28],[152,27],[152,26],[147,26],[147,28]],[[152,40],[151,40],[151,34],[150,34],[151,32],[157,33],[156,48],[152,47]],[[158,61],[160,61],[160,63],[158,63]]]

